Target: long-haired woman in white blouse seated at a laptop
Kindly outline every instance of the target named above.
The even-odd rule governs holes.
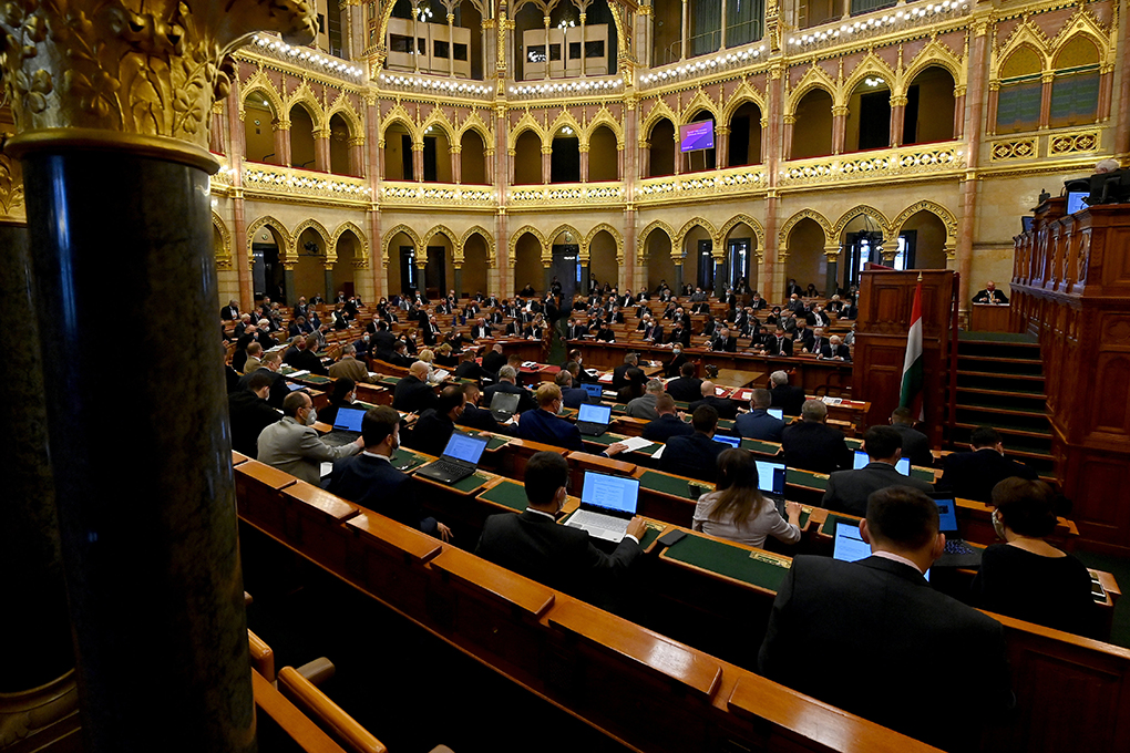
[[[754,456],[732,448],[718,456],[716,491],[698,498],[693,527],[750,546],[762,546],[766,536],[793,544],[800,541],[800,505],[785,502],[785,513],[788,522],[758,491]]]

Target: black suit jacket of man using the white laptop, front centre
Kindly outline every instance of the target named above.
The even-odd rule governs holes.
[[[475,553],[550,588],[600,604],[643,551],[631,539],[623,539],[611,554],[605,554],[584,531],[527,510],[488,517]]]

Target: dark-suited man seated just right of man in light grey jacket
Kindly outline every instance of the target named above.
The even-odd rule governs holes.
[[[391,458],[400,448],[400,413],[377,405],[360,422],[360,455],[333,464],[327,491],[350,502],[386,515],[397,523],[418,528],[443,541],[451,541],[451,528],[424,515],[419,493],[411,476],[392,467]]]

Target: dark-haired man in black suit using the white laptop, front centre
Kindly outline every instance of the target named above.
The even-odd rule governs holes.
[[[635,517],[611,554],[580,528],[557,525],[568,499],[568,463],[557,453],[534,453],[525,465],[528,505],[521,515],[492,515],[475,553],[571,596],[607,606],[620,576],[643,553],[646,527]],[[612,586],[610,589],[609,586]]]

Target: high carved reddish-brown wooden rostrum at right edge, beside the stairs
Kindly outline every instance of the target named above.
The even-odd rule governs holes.
[[[1052,453],[1090,549],[1130,554],[1130,204],[1036,209],[1016,237],[1014,332],[1040,338]]]

